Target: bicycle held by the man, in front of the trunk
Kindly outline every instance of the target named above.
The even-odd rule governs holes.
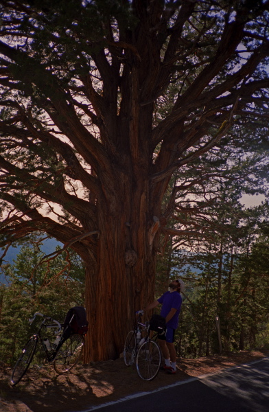
[[[145,336],[140,340],[141,332],[145,332]],[[137,373],[143,380],[156,378],[161,367],[161,350],[156,343],[157,336],[158,333],[150,338],[150,324],[141,323],[139,314],[134,330],[130,330],[124,343],[124,363],[130,366],[135,362]]]

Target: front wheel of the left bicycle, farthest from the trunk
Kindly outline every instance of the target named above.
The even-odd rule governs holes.
[[[19,383],[21,378],[23,378],[23,375],[25,375],[25,372],[27,371],[30,363],[32,362],[34,352],[36,352],[36,345],[36,336],[32,336],[32,338],[26,343],[25,347],[23,347],[21,355],[18,361],[16,361],[16,364],[12,371],[11,383],[13,386]]]

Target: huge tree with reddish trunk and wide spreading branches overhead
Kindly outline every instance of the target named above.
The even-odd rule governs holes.
[[[1,244],[40,229],[80,254],[94,359],[119,354],[134,310],[154,297],[160,234],[189,233],[189,203],[184,229],[167,226],[178,194],[196,185],[211,201],[204,185],[231,165],[215,161],[221,148],[248,165],[255,148],[264,173],[268,8],[1,1]]]

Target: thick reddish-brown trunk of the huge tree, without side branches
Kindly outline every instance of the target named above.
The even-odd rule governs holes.
[[[102,195],[97,200],[97,268],[86,279],[86,310],[90,331],[86,362],[115,359],[124,348],[135,311],[154,301],[156,245],[161,198],[150,186],[152,104],[139,105],[139,78],[132,69],[128,127],[118,124],[121,159],[115,160],[108,181],[102,171]],[[115,128],[117,129],[115,126]],[[129,139],[126,136],[129,134]]]

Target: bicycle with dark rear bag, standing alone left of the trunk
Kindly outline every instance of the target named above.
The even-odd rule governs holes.
[[[36,334],[32,335],[29,341],[27,341],[25,347],[21,351],[18,361],[14,366],[11,376],[12,386],[15,386],[20,382],[21,378],[25,375],[34,354],[38,342],[41,343],[41,347],[45,352],[45,359],[43,363],[53,363],[54,369],[58,374],[65,374],[70,371],[82,357],[84,338],[80,334],[68,334],[68,325],[62,325],[55,319],[45,316],[40,312],[36,312],[32,319],[29,319],[30,324],[36,319],[36,316],[43,317],[43,321],[38,328]],[[49,322],[49,323],[48,323]],[[65,328],[62,330],[62,328]],[[51,343],[49,339],[42,336],[42,332],[49,328],[57,328],[54,334],[57,335],[54,343]],[[62,333],[60,332],[62,330]]]

